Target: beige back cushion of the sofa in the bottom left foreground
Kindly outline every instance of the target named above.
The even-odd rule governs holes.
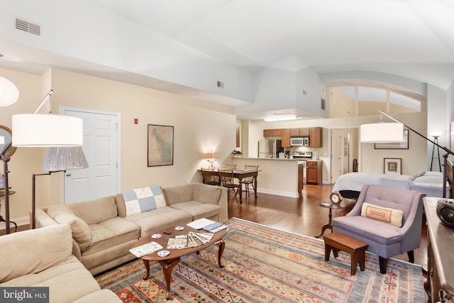
[[[70,226],[54,225],[0,237],[0,282],[41,272],[72,256]],[[6,249],[9,248],[9,249]]]

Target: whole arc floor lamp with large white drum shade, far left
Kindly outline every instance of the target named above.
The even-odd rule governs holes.
[[[9,226],[9,158],[6,151],[11,147],[64,147],[83,145],[82,119],[56,114],[36,114],[45,101],[50,98],[52,89],[35,109],[34,114],[13,115],[12,140],[4,146],[0,158],[4,162],[5,178],[5,231]],[[34,218],[33,218],[34,221]]]

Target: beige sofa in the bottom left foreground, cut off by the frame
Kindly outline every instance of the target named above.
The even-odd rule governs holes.
[[[0,247],[0,287],[49,287],[51,303],[121,302],[72,255],[66,224],[1,236]]]

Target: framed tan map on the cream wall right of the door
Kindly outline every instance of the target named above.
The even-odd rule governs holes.
[[[148,124],[148,166],[173,165],[173,126]]]

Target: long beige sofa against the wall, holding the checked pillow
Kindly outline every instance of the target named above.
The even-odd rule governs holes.
[[[127,214],[123,194],[86,202],[37,209],[37,227],[68,224],[73,254],[93,275],[133,260],[129,249],[140,238],[200,218],[225,222],[227,189],[201,183],[162,187],[165,204],[149,211]]]

